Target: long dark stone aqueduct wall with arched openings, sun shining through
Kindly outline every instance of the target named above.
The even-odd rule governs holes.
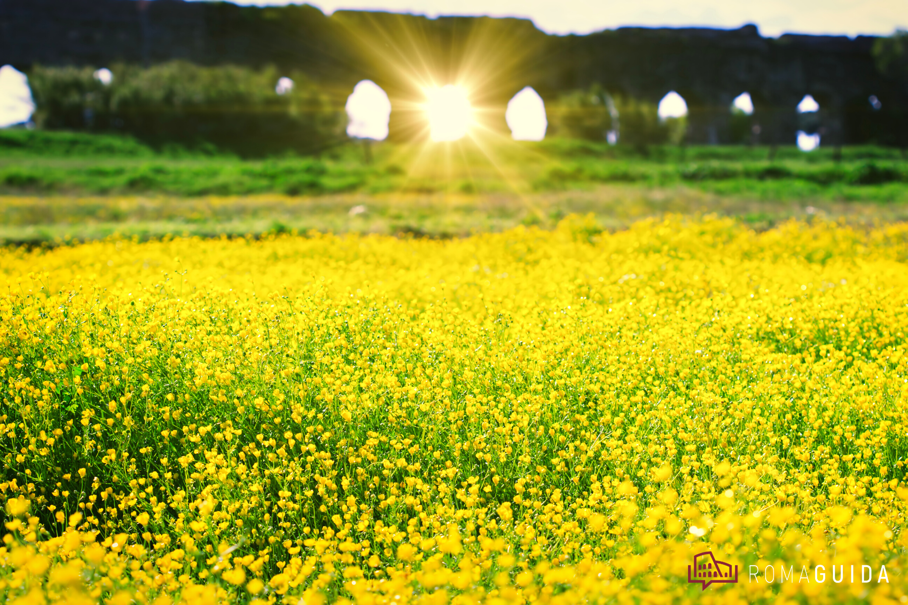
[[[554,36],[520,19],[352,11],[327,17],[306,5],[0,0],[0,64],[271,63],[308,73],[339,98],[370,78],[389,93],[398,136],[418,134],[414,112],[421,88],[432,83],[472,87],[495,129],[503,128],[510,96],[526,85],[551,102],[560,92],[601,83],[653,102],[676,90],[690,111],[688,141],[728,141],[729,104],[746,91],[761,142],[794,142],[795,105],[812,94],[823,110],[824,141],[863,142],[882,132],[886,142],[905,145],[908,82],[878,72],[873,41],[764,38],[754,26]],[[883,102],[882,112],[870,115],[871,94]]]

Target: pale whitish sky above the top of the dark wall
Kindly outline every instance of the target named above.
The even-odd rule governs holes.
[[[232,0],[242,5],[299,0]],[[733,28],[753,23],[765,36],[892,34],[908,28],[908,0],[311,0],[326,14],[340,8],[416,15],[519,16],[549,34],[588,34],[623,25]]]

